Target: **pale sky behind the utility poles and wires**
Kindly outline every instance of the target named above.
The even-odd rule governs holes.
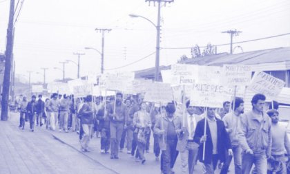
[[[6,50],[9,6],[9,0],[0,0],[0,53]],[[101,56],[84,49],[93,47],[101,51],[101,33],[95,28],[112,29],[105,34],[105,72],[154,67],[156,29],[148,21],[128,14],[157,23],[157,4],[145,0],[25,0],[15,23],[17,76],[27,80],[28,71],[32,71],[31,81],[42,82],[41,67],[48,67],[47,82],[61,79],[59,62],[76,62],[75,52],[85,53],[81,56],[81,76],[99,74]],[[229,43],[229,34],[221,33],[226,30],[242,31],[233,38],[234,42],[284,34],[290,32],[289,21],[288,0],[175,0],[166,6],[162,3],[160,46],[164,49],[160,51],[160,65],[177,63],[182,55],[191,57],[190,49],[165,48]],[[289,47],[290,35],[234,47],[238,45],[243,52]],[[234,53],[242,50],[236,49]],[[218,52],[229,52],[229,45],[218,47]],[[65,72],[66,77],[77,78],[74,63],[66,64]]]

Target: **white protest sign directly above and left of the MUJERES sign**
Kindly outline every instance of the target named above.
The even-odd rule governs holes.
[[[175,64],[171,65],[172,85],[192,85],[197,78],[197,65]]]

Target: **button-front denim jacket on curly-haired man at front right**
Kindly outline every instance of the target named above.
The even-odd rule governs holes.
[[[271,120],[267,113],[262,114],[261,122],[253,111],[240,116],[238,138],[243,151],[252,149],[254,153],[266,151],[267,155],[271,155]]]

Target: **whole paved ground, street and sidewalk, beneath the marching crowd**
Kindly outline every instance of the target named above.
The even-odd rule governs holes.
[[[0,122],[0,173],[120,173],[159,174],[160,161],[155,161],[153,138],[150,152],[145,154],[146,164],[135,162],[131,155],[119,154],[119,160],[100,153],[100,139],[90,141],[89,153],[81,153],[76,133],[59,133],[36,127],[29,131],[18,129],[18,113],[12,113],[8,122]],[[175,173],[181,173],[180,157],[177,157]],[[233,171],[233,165],[231,165]],[[200,163],[195,173],[202,173]],[[219,173],[216,171],[216,173]]]

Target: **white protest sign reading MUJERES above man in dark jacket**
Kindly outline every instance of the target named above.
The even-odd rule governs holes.
[[[191,91],[191,105],[197,107],[222,107],[224,87],[222,85],[195,83]]]

